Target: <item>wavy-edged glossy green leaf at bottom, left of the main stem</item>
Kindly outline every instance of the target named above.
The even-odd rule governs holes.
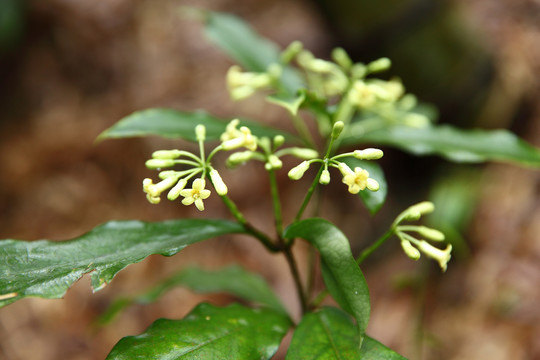
[[[269,309],[203,303],[182,320],[160,319],[123,338],[107,359],[270,359],[290,326]]]

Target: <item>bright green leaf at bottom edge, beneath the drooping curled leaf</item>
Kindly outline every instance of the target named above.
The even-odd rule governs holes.
[[[296,328],[286,360],[405,360],[377,340],[364,336],[343,311],[324,307],[305,315]]]

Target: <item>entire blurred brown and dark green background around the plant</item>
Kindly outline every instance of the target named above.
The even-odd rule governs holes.
[[[182,5],[233,13],[280,46],[300,40],[319,57],[336,46],[356,61],[387,56],[390,75],[434,104],[440,122],[507,128],[540,146],[538,0],[2,0],[0,238],[64,240],[111,219],[227,216],[219,199],[209,199],[204,214],[146,201],[141,181],[155,178],[144,167],[151,152],[191,145],[95,143],[120,118],[149,107],[286,121],[262,98],[229,100],[224,76],[232,62],[199,23],[180,16]],[[441,274],[389,241],[364,267],[373,304],[368,333],[410,359],[539,359],[539,172],[385,151],[390,194],[380,213],[371,217],[354,197],[332,203],[346,194],[337,187],[323,199],[324,215],[360,251],[404,207],[430,198],[440,211],[431,222],[447,227],[455,252]],[[246,166],[222,176],[253,223],[270,231],[265,187],[252,186],[260,196],[241,196],[245,181],[265,184],[264,171]],[[280,180],[291,201],[306,188],[291,184],[286,171]],[[151,256],[95,294],[85,277],[63,300],[25,299],[1,309],[0,358],[102,359],[158,317],[180,318],[201,300],[230,301],[175,289],[95,326],[115,297],[193,262],[259,271],[298,312],[283,259],[245,238],[216,239],[171,258]]]

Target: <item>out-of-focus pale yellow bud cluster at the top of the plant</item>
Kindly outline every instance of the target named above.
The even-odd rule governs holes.
[[[338,98],[338,101],[347,102],[356,110],[372,113],[378,120],[392,124],[425,127],[431,123],[428,116],[417,111],[416,97],[405,93],[399,79],[373,77],[390,69],[390,59],[383,57],[367,64],[353,62],[345,50],[336,48],[332,51],[331,59],[324,60],[315,57],[299,41],[292,42],[281,53],[279,63],[271,64],[264,72],[243,71],[238,65],[232,66],[227,73],[231,98],[243,100],[260,90],[279,93],[279,80],[286,67],[293,64],[304,75],[305,89],[318,99],[330,102]],[[302,96],[299,95],[300,102],[305,101]],[[274,97],[267,99],[284,105],[276,102]]]

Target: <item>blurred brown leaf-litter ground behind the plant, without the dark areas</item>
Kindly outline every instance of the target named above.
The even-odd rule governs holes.
[[[177,143],[94,144],[101,131],[135,110],[204,108],[222,117],[280,122],[283,114],[262,99],[229,101],[224,74],[231,62],[204,39],[199,24],[177,15],[186,4],[240,15],[281,46],[300,39],[321,55],[334,46],[307,1],[28,2],[27,37],[0,63],[0,238],[62,240],[111,219],[201,216],[178,204],[152,206],[141,191],[148,154]],[[540,4],[452,4],[493,58],[494,82],[481,121],[511,126],[540,146]],[[540,359],[540,173],[500,164],[480,171],[478,203],[466,230],[468,256],[456,256],[440,275],[394,247],[365,269],[373,303],[369,333],[411,359]],[[252,200],[266,199],[256,186],[264,182],[257,167],[223,176],[231,194],[242,194],[250,179],[256,194],[238,201],[265,228],[270,204]],[[287,185],[284,198],[295,200],[299,189]],[[384,224],[398,211],[385,207],[375,222]],[[325,212],[350,238],[373,230],[356,202],[329,205]],[[226,216],[212,200],[203,215]],[[1,309],[0,359],[102,359],[121,337],[142,332],[158,317],[179,318],[201,300],[230,301],[176,289],[156,304],[128,309],[110,326],[92,326],[116,296],[138,293],[192,262],[208,268],[239,262],[260,271],[298,312],[292,283],[281,280],[288,275],[283,259],[245,239],[212,240],[172,258],[152,256],[95,294],[85,277],[63,300],[25,299]],[[422,269],[425,288],[395,286],[397,275],[415,278]]]

